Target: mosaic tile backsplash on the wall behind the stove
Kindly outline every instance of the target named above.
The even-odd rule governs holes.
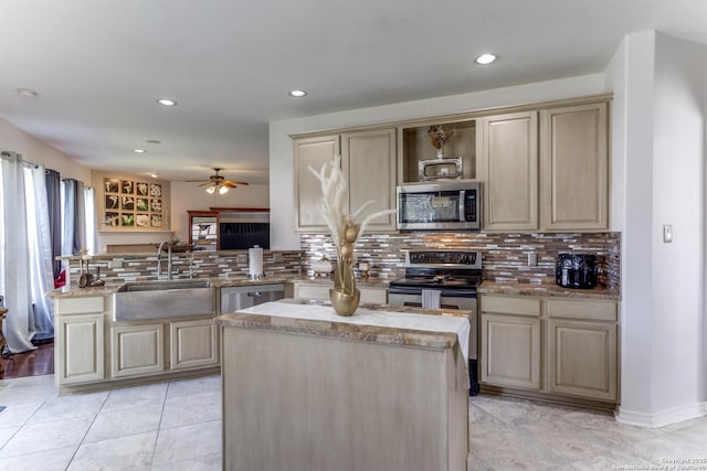
[[[326,234],[303,234],[303,274],[313,275],[312,265],[327,257],[336,259],[331,238]],[[399,233],[363,234],[356,244],[358,261],[371,264],[372,277],[394,279],[404,274],[404,250],[464,249],[479,250],[484,278],[495,281],[555,285],[558,254],[594,254],[599,282],[611,290],[620,289],[621,234],[488,234],[488,233]],[[528,254],[537,265],[528,266]]]

